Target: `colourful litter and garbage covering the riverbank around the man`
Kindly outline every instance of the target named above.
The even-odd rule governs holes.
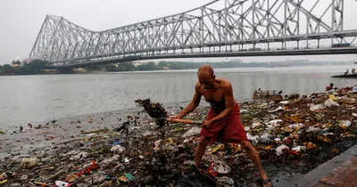
[[[357,94],[353,88],[291,98],[239,104],[248,139],[259,151],[270,178],[282,171],[305,174],[357,142]],[[203,120],[207,111],[206,107],[197,108],[187,118]],[[164,138],[158,127],[162,126],[153,118],[138,112],[119,128],[82,131],[81,138],[6,159],[0,163],[0,184],[104,187],[258,183],[257,169],[239,144],[216,142],[208,147],[198,170],[194,155],[201,127],[166,124]]]

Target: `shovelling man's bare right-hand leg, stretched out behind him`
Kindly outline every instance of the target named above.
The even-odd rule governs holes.
[[[257,167],[259,174],[261,175],[263,180],[267,180],[268,176],[265,174],[264,170],[262,169],[261,159],[259,158],[258,152],[254,149],[253,145],[249,141],[242,141],[240,142],[242,148],[245,150],[246,154],[252,159],[255,167]],[[272,183],[267,183],[264,186],[271,186]]]

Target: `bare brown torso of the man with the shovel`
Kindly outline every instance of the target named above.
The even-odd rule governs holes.
[[[227,108],[225,93],[227,93],[229,86],[230,83],[228,80],[223,78],[216,78],[214,81],[214,87],[207,89],[204,88],[200,82],[197,82],[195,84],[195,89],[197,93],[202,94],[206,102],[210,102],[212,110],[222,112]]]

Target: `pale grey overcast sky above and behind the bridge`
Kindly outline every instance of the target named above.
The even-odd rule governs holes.
[[[0,64],[27,58],[46,14],[95,31],[184,12],[211,0],[1,0]],[[309,0],[313,1],[313,0]],[[322,0],[322,2],[330,2]],[[357,28],[357,2],[345,1],[345,28]],[[287,58],[311,61],[356,61],[356,55],[312,57],[256,57],[243,61],[284,61]],[[224,58],[225,59],[225,58]],[[220,59],[216,59],[220,60]],[[195,61],[203,61],[195,60]]]

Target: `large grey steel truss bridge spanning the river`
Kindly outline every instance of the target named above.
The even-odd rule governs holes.
[[[344,29],[344,0],[215,0],[100,32],[46,15],[29,57],[76,68],[151,59],[344,54],[357,53],[356,37],[357,29]]]

